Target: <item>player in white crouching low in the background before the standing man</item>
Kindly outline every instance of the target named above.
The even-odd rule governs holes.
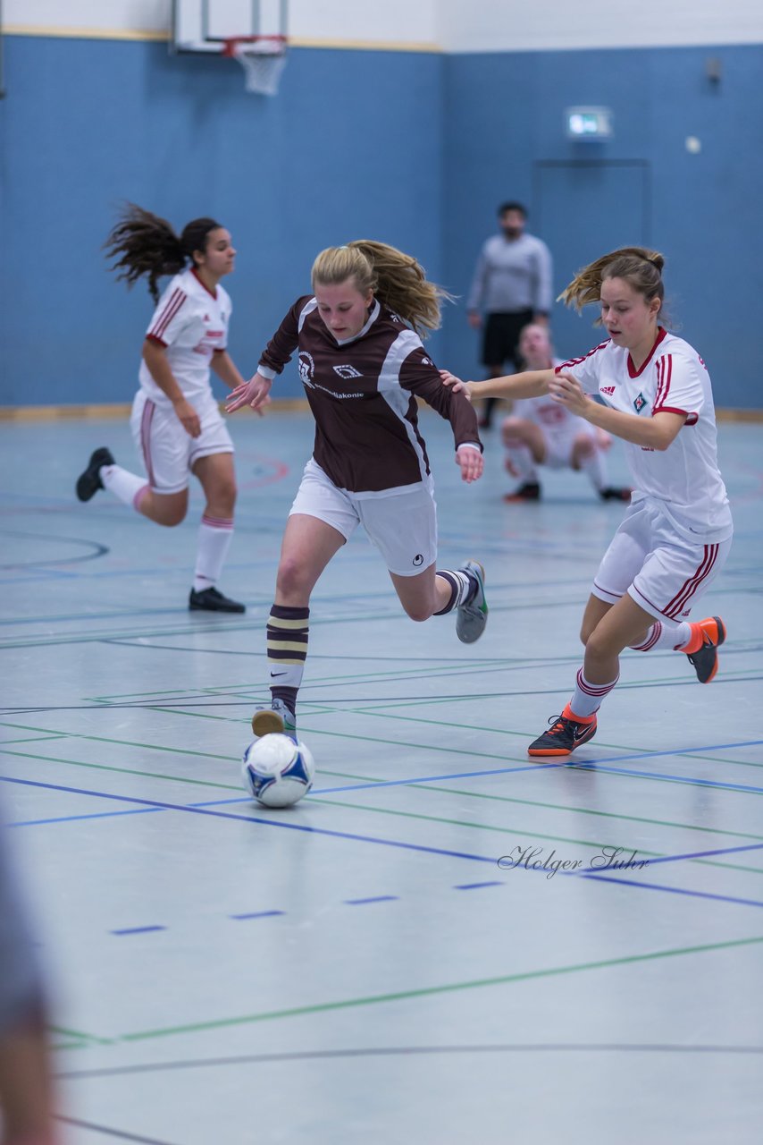
[[[519,355],[525,370],[550,370],[562,364],[561,358],[553,357],[549,332],[540,323],[523,327]],[[540,500],[538,465],[585,473],[602,500],[630,500],[630,489],[611,485],[607,480],[604,453],[612,445],[610,434],[570,413],[550,395],[516,402],[511,414],[501,423],[501,439],[506,468],[519,479],[519,485],[503,498],[506,502]]]

